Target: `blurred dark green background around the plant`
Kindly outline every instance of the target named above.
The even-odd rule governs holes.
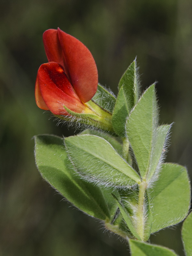
[[[115,94],[137,56],[142,90],[158,81],[160,122],[175,122],[167,161],[187,166],[192,176],[192,2],[1,0],[0,14],[0,255],[129,255],[125,242],[70,207],[36,169],[34,135],[74,132],[35,103],[36,73],[47,62],[42,34],[60,27],[82,41],[100,83]],[[164,229],[151,242],[184,255],[180,228]]]

